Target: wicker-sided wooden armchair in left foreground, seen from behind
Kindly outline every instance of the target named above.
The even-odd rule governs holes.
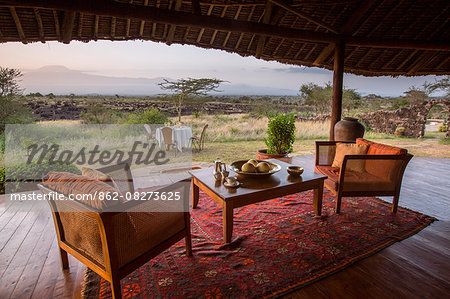
[[[127,164],[99,170],[114,179],[122,194],[134,192]],[[180,181],[157,191],[182,190],[189,194],[189,184]],[[43,185],[39,188],[46,194],[54,193]],[[122,278],[179,240],[186,238],[186,255],[192,255],[189,212],[147,212],[144,205],[155,201],[127,201],[121,203],[121,212],[98,211],[78,201],[48,202],[62,268],[69,267],[70,253],[111,283],[113,298],[121,298]]]

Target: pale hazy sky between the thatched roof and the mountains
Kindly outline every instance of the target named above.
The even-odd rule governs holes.
[[[0,57],[0,66],[19,68],[25,74],[44,66],[60,65],[90,75],[121,78],[215,77],[229,81],[230,85],[251,86],[256,91],[255,94],[258,94],[258,87],[270,87],[295,95],[302,83],[322,85],[332,80],[332,72],[319,68],[298,67],[254,57],[241,57],[219,50],[175,44],[167,46],[149,41],[71,42],[69,45],[57,42],[27,45],[6,43],[0,45]],[[344,85],[363,95],[375,93],[398,96],[410,86],[419,86],[425,81],[434,81],[435,78],[438,77],[374,78],[345,75]],[[45,89],[45,82],[40,84],[43,90],[51,88],[47,86]],[[51,85],[51,82],[48,84]],[[27,86],[24,87],[25,92],[39,91],[30,90],[36,87],[28,90]],[[102,92],[103,90],[99,90],[99,93]]]

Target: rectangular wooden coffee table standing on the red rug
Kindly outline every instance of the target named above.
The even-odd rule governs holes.
[[[281,170],[266,178],[248,179],[238,176],[242,185],[239,188],[226,188],[213,177],[212,168],[190,171],[192,175],[192,208],[197,208],[199,189],[202,189],[223,208],[223,239],[231,241],[233,234],[233,209],[243,207],[277,197],[314,189],[314,212],[320,216],[322,212],[324,175],[305,169],[299,178],[292,178],[286,171],[291,164],[270,159],[277,163]],[[230,176],[235,175],[230,171]]]

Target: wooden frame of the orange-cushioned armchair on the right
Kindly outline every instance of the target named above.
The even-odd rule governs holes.
[[[321,146],[335,146],[337,143],[355,143],[351,141],[316,141],[316,158],[315,158],[315,166],[320,165],[327,165],[327,164],[321,164],[320,163],[320,147]],[[325,181],[325,186],[332,191],[335,195],[337,195],[336,198],[336,213],[340,213],[341,210],[341,202],[342,197],[357,197],[357,196],[393,196],[393,202],[392,202],[392,213],[397,213],[398,208],[398,201],[400,197],[400,189],[402,185],[402,179],[403,179],[403,173],[405,172],[406,166],[408,165],[409,161],[412,159],[413,155],[411,154],[405,154],[405,155],[346,155],[344,156],[344,160],[342,162],[342,167],[339,170],[339,178],[338,178],[338,190],[334,190],[332,186],[327,184]],[[345,190],[344,181],[345,181],[345,173],[346,173],[346,167],[350,160],[391,160],[391,161],[402,161],[401,165],[399,166],[400,169],[397,172],[397,175],[393,178],[395,188],[394,190],[365,190],[365,191],[350,191]],[[331,163],[330,163],[331,164]]]

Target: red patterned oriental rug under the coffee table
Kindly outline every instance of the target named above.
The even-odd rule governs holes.
[[[223,243],[222,210],[200,193],[191,211],[193,256],[184,239],[121,281],[124,298],[277,297],[344,269],[405,239],[435,219],[376,198],[344,198],[324,190],[322,217],[312,192],[234,210],[233,239]],[[84,298],[111,298],[110,284],[87,269]]]

